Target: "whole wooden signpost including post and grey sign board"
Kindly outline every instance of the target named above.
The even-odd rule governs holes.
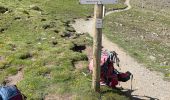
[[[80,4],[95,4],[93,38],[93,75],[92,88],[100,92],[100,60],[102,44],[103,4],[115,4],[117,0],[80,0]]]

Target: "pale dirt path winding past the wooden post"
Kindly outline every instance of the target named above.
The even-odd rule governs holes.
[[[126,1],[128,5],[126,9],[111,11],[106,15],[129,10],[131,8],[129,2],[130,0]],[[93,37],[93,19],[89,19],[88,21],[78,19],[73,24],[73,27],[77,32],[88,32]],[[137,63],[122,48],[110,42],[105,36],[102,39],[104,49],[114,50],[119,54],[120,66],[122,66],[121,70],[130,71],[134,75],[133,91],[127,92],[132,100],[170,100],[170,82],[164,81],[161,73],[150,71],[142,64]],[[130,90],[131,82],[121,83],[120,86],[125,90]]]

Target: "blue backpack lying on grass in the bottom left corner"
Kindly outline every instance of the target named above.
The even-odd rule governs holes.
[[[25,100],[16,85],[0,86],[0,100]]]

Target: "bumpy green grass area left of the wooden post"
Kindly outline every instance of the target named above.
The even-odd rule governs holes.
[[[73,99],[98,99],[91,91],[91,76],[87,70],[85,52],[74,52],[74,44],[90,45],[86,35],[71,38],[61,36],[72,31],[68,24],[73,18],[86,17],[91,6],[79,5],[75,0],[0,0],[10,12],[0,14],[0,82],[23,71],[24,79],[17,84],[28,100],[43,99],[48,94],[66,95]],[[37,5],[42,11],[30,9]],[[73,63],[83,61],[83,69]],[[109,92],[110,91],[110,92]],[[102,99],[126,100],[122,93],[102,87]]]

